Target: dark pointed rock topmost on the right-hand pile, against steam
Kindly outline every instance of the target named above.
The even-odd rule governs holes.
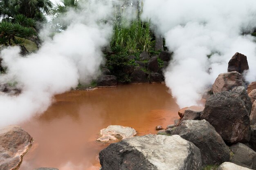
[[[242,74],[245,70],[249,70],[247,57],[241,53],[236,53],[231,60],[229,60],[227,71],[237,71]]]

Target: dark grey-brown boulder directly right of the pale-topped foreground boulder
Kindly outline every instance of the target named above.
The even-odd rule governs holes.
[[[174,130],[174,134],[191,141],[200,149],[203,165],[229,161],[229,148],[206,120],[182,121]]]

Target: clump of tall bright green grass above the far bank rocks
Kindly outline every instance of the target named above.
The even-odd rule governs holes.
[[[116,23],[111,41],[111,49],[115,53],[134,54],[153,48],[150,23],[135,20],[127,26],[126,22]]]

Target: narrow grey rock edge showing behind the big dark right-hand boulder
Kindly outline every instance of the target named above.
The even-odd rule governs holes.
[[[245,108],[247,109],[247,112],[250,114],[252,109],[252,102],[249,95],[247,94],[245,87],[244,86],[234,87],[232,89],[232,92],[235,92],[234,95],[237,94],[238,97],[240,97],[243,100],[243,102],[245,103]]]

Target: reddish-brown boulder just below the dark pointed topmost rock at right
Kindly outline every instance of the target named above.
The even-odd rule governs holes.
[[[213,93],[229,91],[236,86],[244,86],[242,75],[236,71],[221,73],[213,83]]]

